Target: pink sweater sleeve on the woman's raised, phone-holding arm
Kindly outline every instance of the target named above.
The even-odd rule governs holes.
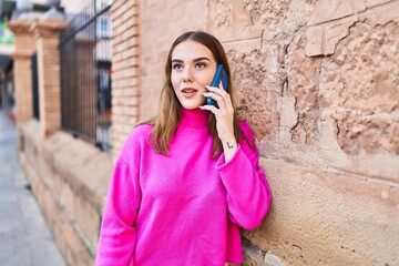
[[[247,139],[255,144],[249,126],[241,123]],[[225,163],[222,155],[216,170],[227,192],[227,208],[231,219],[245,229],[260,225],[267,214],[272,192],[266,175],[258,165],[259,155],[245,141],[241,141],[233,158]]]

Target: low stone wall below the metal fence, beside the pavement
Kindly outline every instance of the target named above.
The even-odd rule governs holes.
[[[35,120],[20,126],[21,165],[65,262],[94,265],[112,160],[68,133],[38,132]]]

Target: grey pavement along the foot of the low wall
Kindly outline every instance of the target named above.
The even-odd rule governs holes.
[[[0,109],[0,266],[65,266],[18,161],[17,129]]]

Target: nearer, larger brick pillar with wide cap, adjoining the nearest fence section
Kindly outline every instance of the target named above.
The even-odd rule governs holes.
[[[47,19],[35,24],[39,69],[41,136],[45,139],[61,126],[60,31],[66,22]]]

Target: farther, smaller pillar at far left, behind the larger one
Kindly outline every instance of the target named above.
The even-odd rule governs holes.
[[[35,51],[33,33],[30,31],[34,21],[14,20],[9,22],[16,35],[14,84],[17,125],[21,125],[33,116],[32,54]]]

